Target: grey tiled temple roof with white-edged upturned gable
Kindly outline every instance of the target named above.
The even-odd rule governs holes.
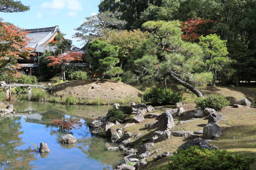
[[[48,27],[48,28],[36,28],[36,29],[26,29],[29,31],[27,38],[31,39],[27,47],[35,48],[33,52],[41,52],[51,50],[54,51],[54,46],[47,45],[50,41],[57,35],[59,31],[59,26]]]

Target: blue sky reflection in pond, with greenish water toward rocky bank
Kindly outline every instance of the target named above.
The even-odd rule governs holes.
[[[54,112],[52,114],[58,115],[57,118],[60,117],[60,114]],[[121,151],[107,151],[106,148],[109,144],[105,138],[92,137],[89,127],[86,125],[88,119],[79,118],[80,122],[83,123],[82,129],[70,131],[77,138],[76,146],[71,149],[62,146],[60,140],[65,133],[59,132],[59,129],[54,126],[48,126],[47,128],[45,124],[42,124],[47,119],[49,120],[49,115],[47,113],[28,115],[27,118],[22,116],[20,120],[22,127],[20,131],[23,131],[23,134],[20,134],[19,137],[22,138],[24,145],[17,147],[18,149],[25,150],[28,147],[34,149],[33,145],[39,147],[41,142],[47,143],[50,148],[50,153],[45,158],[42,158],[44,156],[41,157],[39,153],[35,154],[36,160],[30,164],[36,169],[107,170],[114,169],[116,164],[121,163],[121,159],[123,159]],[[61,114],[61,116],[63,115]],[[65,117],[70,118],[69,115]]]

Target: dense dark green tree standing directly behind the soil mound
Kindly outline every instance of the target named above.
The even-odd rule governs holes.
[[[115,75],[121,70],[114,66],[119,63],[118,46],[113,46],[107,43],[107,41],[95,39],[91,41],[87,46],[86,61],[90,63],[93,74],[98,75],[101,80],[106,74]],[[116,72],[114,72],[116,71]]]

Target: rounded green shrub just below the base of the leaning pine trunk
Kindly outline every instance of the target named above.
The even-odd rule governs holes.
[[[199,97],[196,99],[195,103],[196,107],[201,107],[202,109],[210,107],[216,111],[229,105],[229,101],[225,97],[219,95],[210,95],[205,98]]]

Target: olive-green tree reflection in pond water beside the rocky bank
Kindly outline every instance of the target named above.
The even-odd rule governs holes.
[[[107,164],[108,166],[104,168],[107,170],[114,169],[117,164],[121,163],[123,157],[123,152],[121,151],[107,150],[108,145],[109,143],[106,140],[92,137],[78,139],[76,147],[81,149],[88,158],[97,160],[101,165]]]

